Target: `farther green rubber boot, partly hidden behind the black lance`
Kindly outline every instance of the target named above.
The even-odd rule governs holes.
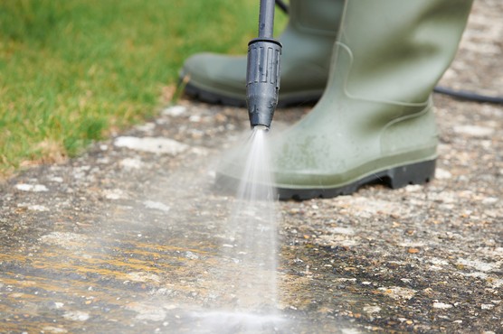
[[[290,1],[289,23],[279,37],[283,45],[280,107],[321,97],[343,5],[343,0]],[[246,55],[195,54],[185,61],[180,78],[189,96],[246,106]]]

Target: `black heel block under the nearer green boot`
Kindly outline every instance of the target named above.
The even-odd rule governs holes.
[[[432,181],[435,176],[436,160],[417,162],[393,168],[387,172],[389,186],[393,189],[409,184],[424,184]]]

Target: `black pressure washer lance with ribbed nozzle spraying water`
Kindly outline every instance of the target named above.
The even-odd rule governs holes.
[[[259,37],[248,43],[246,104],[251,128],[270,128],[280,92],[281,43],[272,38],[274,0],[261,0]]]

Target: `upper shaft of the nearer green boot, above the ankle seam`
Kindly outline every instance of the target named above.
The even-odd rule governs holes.
[[[347,0],[331,80],[349,97],[424,103],[450,66],[472,0]]]

